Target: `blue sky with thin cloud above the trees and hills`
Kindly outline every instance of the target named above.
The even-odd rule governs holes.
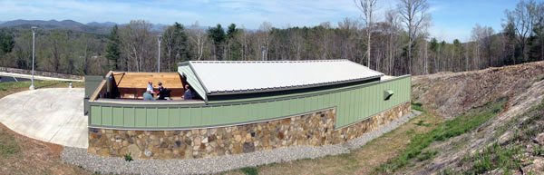
[[[379,0],[378,21],[383,13],[395,8],[397,0]],[[432,36],[451,43],[458,38],[469,41],[475,24],[500,30],[505,9],[513,9],[518,0],[429,0]],[[185,1],[74,1],[74,0],[0,0],[0,21],[15,19],[64,20],[82,23],[115,22],[134,19],[154,24],[200,25],[234,23],[257,29],[263,22],[278,28],[314,26],[330,22],[334,26],[345,17],[356,18],[361,12],[353,0],[185,0]]]

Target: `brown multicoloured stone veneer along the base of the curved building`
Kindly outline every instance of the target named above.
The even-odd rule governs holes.
[[[286,119],[187,131],[126,131],[89,128],[88,152],[134,159],[197,159],[297,145],[343,143],[410,112],[405,102],[362,122],[335,130],[335,109]]]

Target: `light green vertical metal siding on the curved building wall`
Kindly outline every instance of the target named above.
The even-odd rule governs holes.
[[[273,120],[323,109],[336,108],[335,128],[364,120],[378,112],[410,102],[411,77],[374,82],[281,99],[246,99],[189,107],[131,107],[91,103],[91,127],[183,129]],[[384,91],[393,96],[384,100]]]

